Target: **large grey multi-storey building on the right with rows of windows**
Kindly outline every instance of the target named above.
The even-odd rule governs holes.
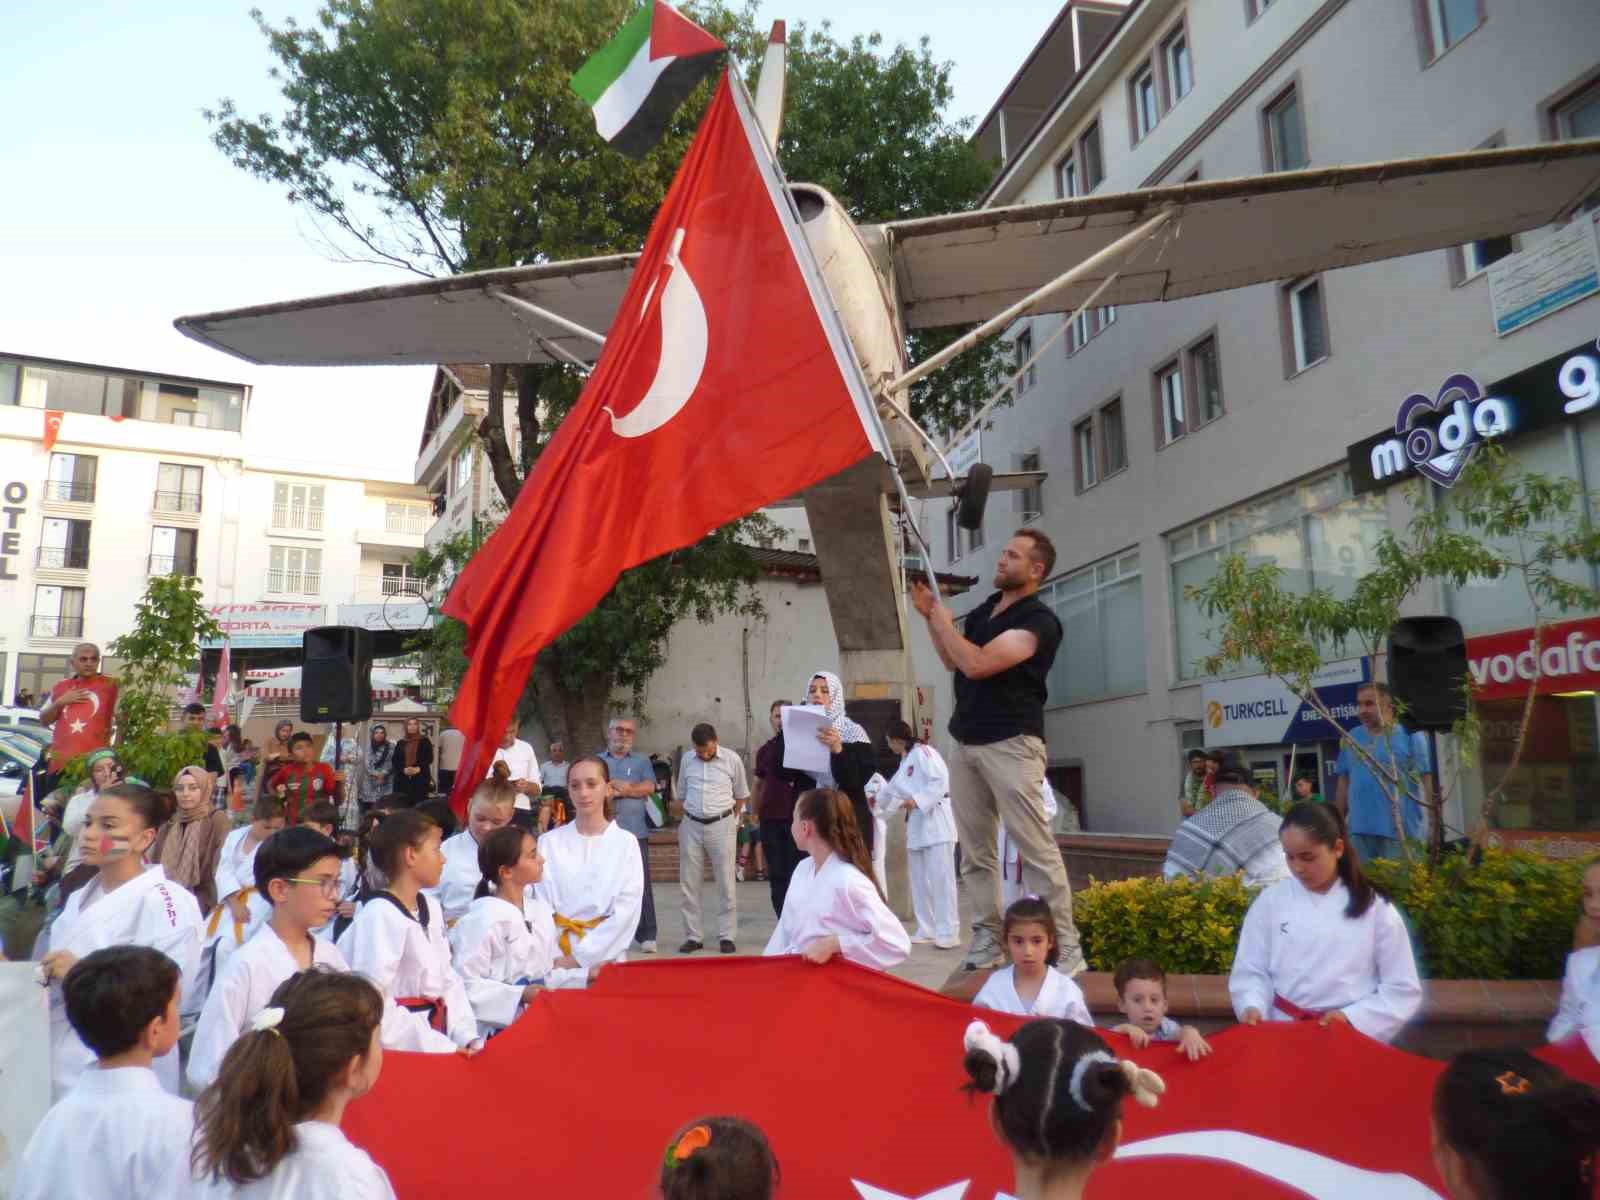
[[[979,126],[978,146],[1005,155],[992,206],[1600,136],[1592,0],[1136,0],[1109,30],[1093,24],[1088,45],[1067,37],[1085,27],[1075,10],[1102,22],[1107,5],[1069,3]],[[1016,526],[1038,525],[1056,542],[1043,598],[1066,640],[1046,734],[1053,778],[1067,781],[1090,830],[1170,832],[1182,755],[1203,744],[1237,747],[1280,789],[1293,750],[1294,771],[1331,790],[1336,733],[1296,736],[1293,712],[1278,728],[1238,725],[1275,712],[1259,699],[1275,694],[1272,682],[1205,677],[1213,621],[1184,589],[1237,552],[1275,562],[1296,587],[1347,594],[1378,533],[1410,518],[1410,490],[1389,485],[1416,472],[1403,459],[1387,477],[1371,467],[1374,435],[1394,429],[1405,397],[1432,400],[1454,374],[1499,389],[1518,414],[1506,437],[1517,462],[1600,488],[1600,410],[1574,400],[1563,413],[1557,397],[1563,379],[1582,392],[1586,368],[1573,363],[1600,354],[1592,210],[1458,250],[1086,312],[995,411],[982,459],[1048,480],[990,501],[976,536],[942,504],[923,506],[923,520],[941,570],[986,579]],[[1517,310],[1506,298],[1546,269],[1574,282],[1565,294],[1533,286]],[[1021,358],[1062,322],[1013,326]],[[1429,483],[1422,502],[1438,494]],[[955,606],[986,594],[979,586]],[[1485,670],[1506,638],[1515,661],[1518,630],[1533,624],[1520,582],[1432,589],[1413,610],[1459,618],[1482,638],[1469,656]],[[1354,702],[1355,677],[1342,670],[1338,686]],[[918,675],[936,674],[918,635]],[[1568,677],[1562,694],[1541,696],[1507,826],[1600,827],[1594,686]],[[1480,768],[1454,770],[1446,746],[1454,827],[1462,797],[1475,811],[1509,757],[1494,744],[1504,722],[1485,715]]]

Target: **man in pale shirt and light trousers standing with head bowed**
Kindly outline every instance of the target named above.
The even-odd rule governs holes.
[[[750,782],[744,763],[733,750],[717,746],[717,730],[696,725],[690,733],[694,752],[678,763],[678,795],[683,798],[683,822],[678,826],[678,888],[683,893],[685,941],[678,954],[706,949],[701,941],[699,893],[710,858],[712,878],[722,912],[717,915],[718,949],[733,954],[733,934],[739,926],[739,909],[733,891],[733,861],[738,846],[739,805],[750,798]]]

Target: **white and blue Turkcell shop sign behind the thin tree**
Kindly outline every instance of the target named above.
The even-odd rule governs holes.
[[[1200,690],[1205,744],[1286,746],[1333,741],[1341,731],[1355,728],[1355,693],[1368,678],[1365,658],[1331,662],[1312,675],[1312,690],[1339,722],[1338,728],[1272,675],[1206,683]]]

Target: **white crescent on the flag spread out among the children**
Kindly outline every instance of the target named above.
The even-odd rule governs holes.
[[[1117,1158],[1213,1158],[1298,1187],[1310,1200],[1443,1200],[1432,1187],[1395,1171],[1368,1171],[1301,1146],[1238,1130],[1197,1130],[1118,1147]]]

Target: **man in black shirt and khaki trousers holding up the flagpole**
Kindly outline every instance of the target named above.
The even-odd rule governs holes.
[[[1022,859],[1022,891],[1040,894],[1056,917],[1058,970],[1085,970],[1072,923],[1072,888],[1045,816],[1045,680],[1061,646],[1061,622],[1035,595],[1056,565],[1056,547],[1038,530],[1018,530],[1000,552],[1000,590],[955,627],[949,608],[923,584],[912,603],[928,621],[933,646],[955,672],[950,798],[962,840],[962,878],[973,901],[966,970],[1000,966],[998,822]]]

